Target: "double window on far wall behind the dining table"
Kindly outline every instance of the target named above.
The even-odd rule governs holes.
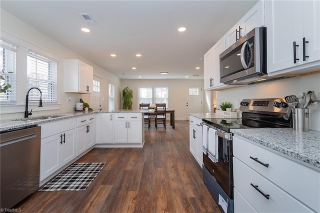
[[[166,103],[168,105],[168,87],[138,87],[139,103]]]

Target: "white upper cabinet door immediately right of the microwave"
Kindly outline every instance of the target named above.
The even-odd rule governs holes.
[[[265,3],[268,73],[298,65],[302,61],[301,10],[296,8],[296,1],[268,0]],[[301,39],[295,40],[299,32]],[[293,41],[299,45],[295,47],[296,58],[299,58],[296,63]]]

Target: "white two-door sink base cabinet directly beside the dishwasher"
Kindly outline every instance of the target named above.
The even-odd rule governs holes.
[[[76,157],[75,118],[41,125],[40,181]]]

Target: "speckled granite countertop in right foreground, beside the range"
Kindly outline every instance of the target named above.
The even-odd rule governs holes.
[[[320,168],[320,131],[292,128],[233,128],[233,134]]]

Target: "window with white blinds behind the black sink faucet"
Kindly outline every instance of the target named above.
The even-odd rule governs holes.
[[[38,87],[43,102],[57,102],[57,62],[34,52],[27,53],[28,88]],[[29,92],[29,100],[40,97],[36,89]],[[31,101],[30,101],[31,102]]]

